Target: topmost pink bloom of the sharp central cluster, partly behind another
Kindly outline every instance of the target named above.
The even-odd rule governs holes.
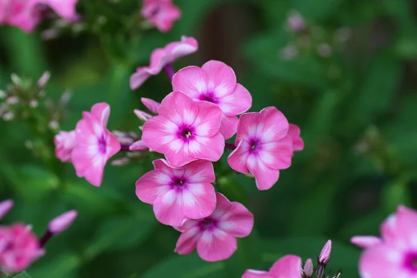
[[[194,100],[218,105],[222,109],[220,133],[225,139],[236,133],[236,115],[252,106],[250,92],[237,83],[231,67],[217,60],[208,61],[201,68],[190,66],[179,70],[172,77],[172,88]]]

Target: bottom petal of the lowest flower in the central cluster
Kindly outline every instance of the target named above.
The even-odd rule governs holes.
[[[221,229],[206,230],[197,240],[197,253],[204,261],[229,259],[237,249],[236,238]]]

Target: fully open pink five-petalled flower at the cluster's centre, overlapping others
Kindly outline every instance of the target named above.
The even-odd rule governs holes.
[[[222,111],[218,106],[172,92],[163,99],[158,112],[143,125],[142,140],[150,149],[165,154],[170,165],[181,167],[197,159],[220,159],[224,138],[219,133]]]

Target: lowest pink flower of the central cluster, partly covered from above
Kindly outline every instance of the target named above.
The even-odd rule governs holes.
[[[181,227],[181,236],[175,252],[190,254],[197,247],[204,261],[229,259],[237,250],[236,238],[248,236],[254,225],[254,215],[238,202],[229,202],[221,193],[216,193],[215,211],[206,218],[186,220]]]

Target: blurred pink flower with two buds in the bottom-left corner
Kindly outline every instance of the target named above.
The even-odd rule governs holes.
[[[12,200],[0,202],[0,220],[12,207]],[[28,268],[45,254],[43,247],[48,240],[70,227],[76,216],[76,211],[68,211],[54,218],[42,238],[33,234],[28,224],[0,225],[0,270],[17,273]]]

